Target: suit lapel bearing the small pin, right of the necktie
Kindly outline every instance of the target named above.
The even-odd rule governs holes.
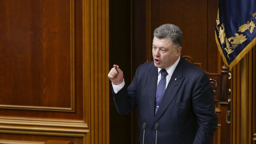
[[[184,80],[182,63],[183,59],[180,58],[180,62],[178,63],[178,65],[175,68],[175,71],[172,74],[172,77],[163,95],[163,99],[157,110],[156,116],[154,117],[154,123],[157,122],[158,119],[160,119],[160,117],[169,107],[170,103],[175,98],[177,91],[180,89],[180,86],[182,85],[182,82]]]

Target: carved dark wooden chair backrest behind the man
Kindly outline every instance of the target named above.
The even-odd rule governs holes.
[[[182,56],[188,62],[202,68],[201,63],[193,62],[191,56]],[[221,73],[210,73],[205,71],[213,88],[215,99],[215,113],[218,116],[218,127],[215,132],[214,142],[212,144],[230,144],[230,95],[229,95],[229,67],[223,65]]]

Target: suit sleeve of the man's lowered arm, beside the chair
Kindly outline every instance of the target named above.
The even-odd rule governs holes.
[[[211,144],[218,117],[215,114],[215,102],[209,77],[203,73],[198,79],[192,94],[192,107],[198,119],[198,130],[193,144]]]

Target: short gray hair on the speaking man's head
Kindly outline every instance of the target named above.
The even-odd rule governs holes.
[[[154,30],[154,36],[157,37],[158,39],[171,38],[172,43],[176,45],[177,48],[182,45],[183,34],[177,25],[173,25],[173,24],[161,25]]]

